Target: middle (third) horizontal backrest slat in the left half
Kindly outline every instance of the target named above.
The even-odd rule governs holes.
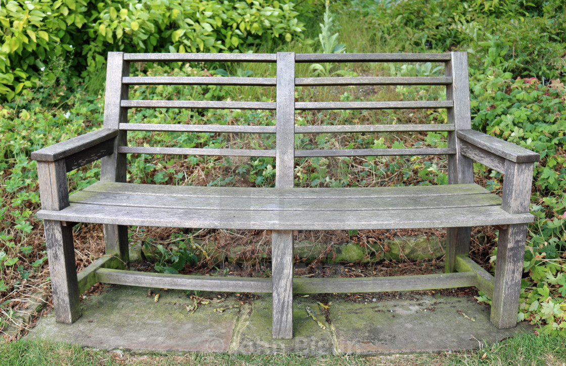
[[[124,108],[276,109],[271,101],[122,100]]]

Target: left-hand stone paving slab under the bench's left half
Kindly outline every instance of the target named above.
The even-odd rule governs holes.
[[[146,297],[148,288],[112,286],[102,295],[81,304],[82,317],[74,324],[55,322],[54,313],[42,318],[27,339],[77,343],[85,347],[128,351],[227,352],[238,309],[213,312],[214,308],[238,304],[234,300],[199,307],[191,305],[183,291],[159,291],[155,303]]]

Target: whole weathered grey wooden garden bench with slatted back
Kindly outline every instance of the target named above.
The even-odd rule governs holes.
[[[276,78],[132,77],[132,62],[274,62]],[[441,62],[442,77],[295,78],[300,62]],[[276,87],[276,101],[130,100],[132,85],[206,84]],[[440,85],[436,101],[296,101],[297,86]],[[273,338],[293,337],[293,293],[427,290],[475,286],[493,299],[491,321],[516,325],[533,163],[539,155],[471,130],[468,58],[443,54],[130,54],[109,53],[104,128],[33,152],[37,160],[55,316],[80,316],[79,295],[96,282],[185,290],[273,294]],[[128,124],[130,108],[271,109],[276,126]],[[447,124],[295,126],[295,111],[320,109],[446,108]],[[184,131],[276,134],[275,150],[136,147],[127,132]],[[298,133],[448,131],[445,148],[297,150]],[[271,156],[276,188],[163,186],[126,182],[127,154]],[[446,155],[448,185],[382,188],[293,188],[295,158],[317,156]],[[66,173],[102,159],[101,180],[69,196]],[[474,184],[473,161],[504,174],[503,198]],[[104,224],[106,255],[76,274],[72,225]],[[128,225],[265,229],[272,233],[272,278],[203,277],[126,270]],[[495,278],[468,258],[473,226],[495,225],[499,242]],[[448,230],[444,274],[385,278],[293,278],[293,231],[318,229]]]

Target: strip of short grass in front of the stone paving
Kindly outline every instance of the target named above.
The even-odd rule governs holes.
[[[131,355],[83,349],[79,346],[20,340],[0,344],[4,365],[566,365],[563,337],[520,334],[483,350],[442,354],[301,356],[295,354],[241,355],[200,354]]]

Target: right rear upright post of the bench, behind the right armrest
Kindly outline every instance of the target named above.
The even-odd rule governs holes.
[[[471,129],[470,86],[468,81],[468,53],[451,52],[452,60],[446,63],[445,75],[452,77],[452,84],[446,88],[446,99],[454,101],[448,108],[448,123],[457,130]],[[460,143],[456,131],[448,132],[448,147],[456,148],[455,155],[448,156],[448,184],[474,182],[473,160],[460,154]],[[448,245],[445,272],[456,270],[456,256],[470,252],[470,227],[448,228]]]

